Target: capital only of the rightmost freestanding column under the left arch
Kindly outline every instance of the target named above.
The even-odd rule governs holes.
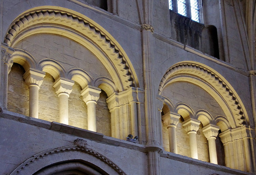
[[[100,98],[101,89],[94,86],[87,85],[82,91],[81,95],[83,96],[84,102],[95,102],[97,104],[98,99]]]

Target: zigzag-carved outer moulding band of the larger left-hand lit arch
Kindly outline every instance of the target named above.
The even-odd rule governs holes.
[[[65,26],[65,29],[63,30],[63,27],[60,28],[57,27],[57,25]],[[56,10],[30,12],[13,22],[13,25],[9,28],[5,36],[4,43],[13,47],[20,39],[23,39],[27,35],[42,33],[44,27],[47,28],[48,32],[52,33],[57,31],[53,28],[58,28],[58,30],[66,32],[71,28],[72,32],[75,31],[76,36],[78,33],[79,37],[82,36],[84,40],[89,40],[89,42],[95,44],[103,54],[110,59],[110,62],[106,64],[115,65],[114,67],[118,72],[119,79],[121,79],[121,83],[123,84],[122,88],[119,87],[119,91],[126,90],[131,86],[136,86],[134,75],[131,73],[131,69],[123,56],[124,54],[121,53],[120,49],[114,44],[116,41],[111,41],[108,36],[86,19],[71,13]],[[28,34],[26,35],[25,33]]]

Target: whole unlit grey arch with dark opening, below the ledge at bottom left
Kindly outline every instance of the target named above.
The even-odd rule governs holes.
[[[35,154],[18,165],[10,175],[63,172],[125,175],[114,162],[89,148],[83,139],[74,140],[74,145],[52,148]]]

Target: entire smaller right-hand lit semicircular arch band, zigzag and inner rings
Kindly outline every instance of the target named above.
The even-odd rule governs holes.
[[[199,85],[222,107],[232,128],[250,123],[245,107],[228,81],[209,66],[193,61],[183,61],[171,66],[161,79],[158,94],[176,81],[187,81]]]

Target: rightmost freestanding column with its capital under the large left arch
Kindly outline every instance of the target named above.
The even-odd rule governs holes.
[[[97,132],[96,127],[96,104],[100,97],[101,89],[87,85],[81,95],[87,105],[88,130]]]

